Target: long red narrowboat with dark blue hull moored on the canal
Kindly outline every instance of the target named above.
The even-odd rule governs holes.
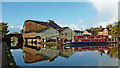
[[[72,42],[66,44],[108,43],[108,36],[74,36]]]

